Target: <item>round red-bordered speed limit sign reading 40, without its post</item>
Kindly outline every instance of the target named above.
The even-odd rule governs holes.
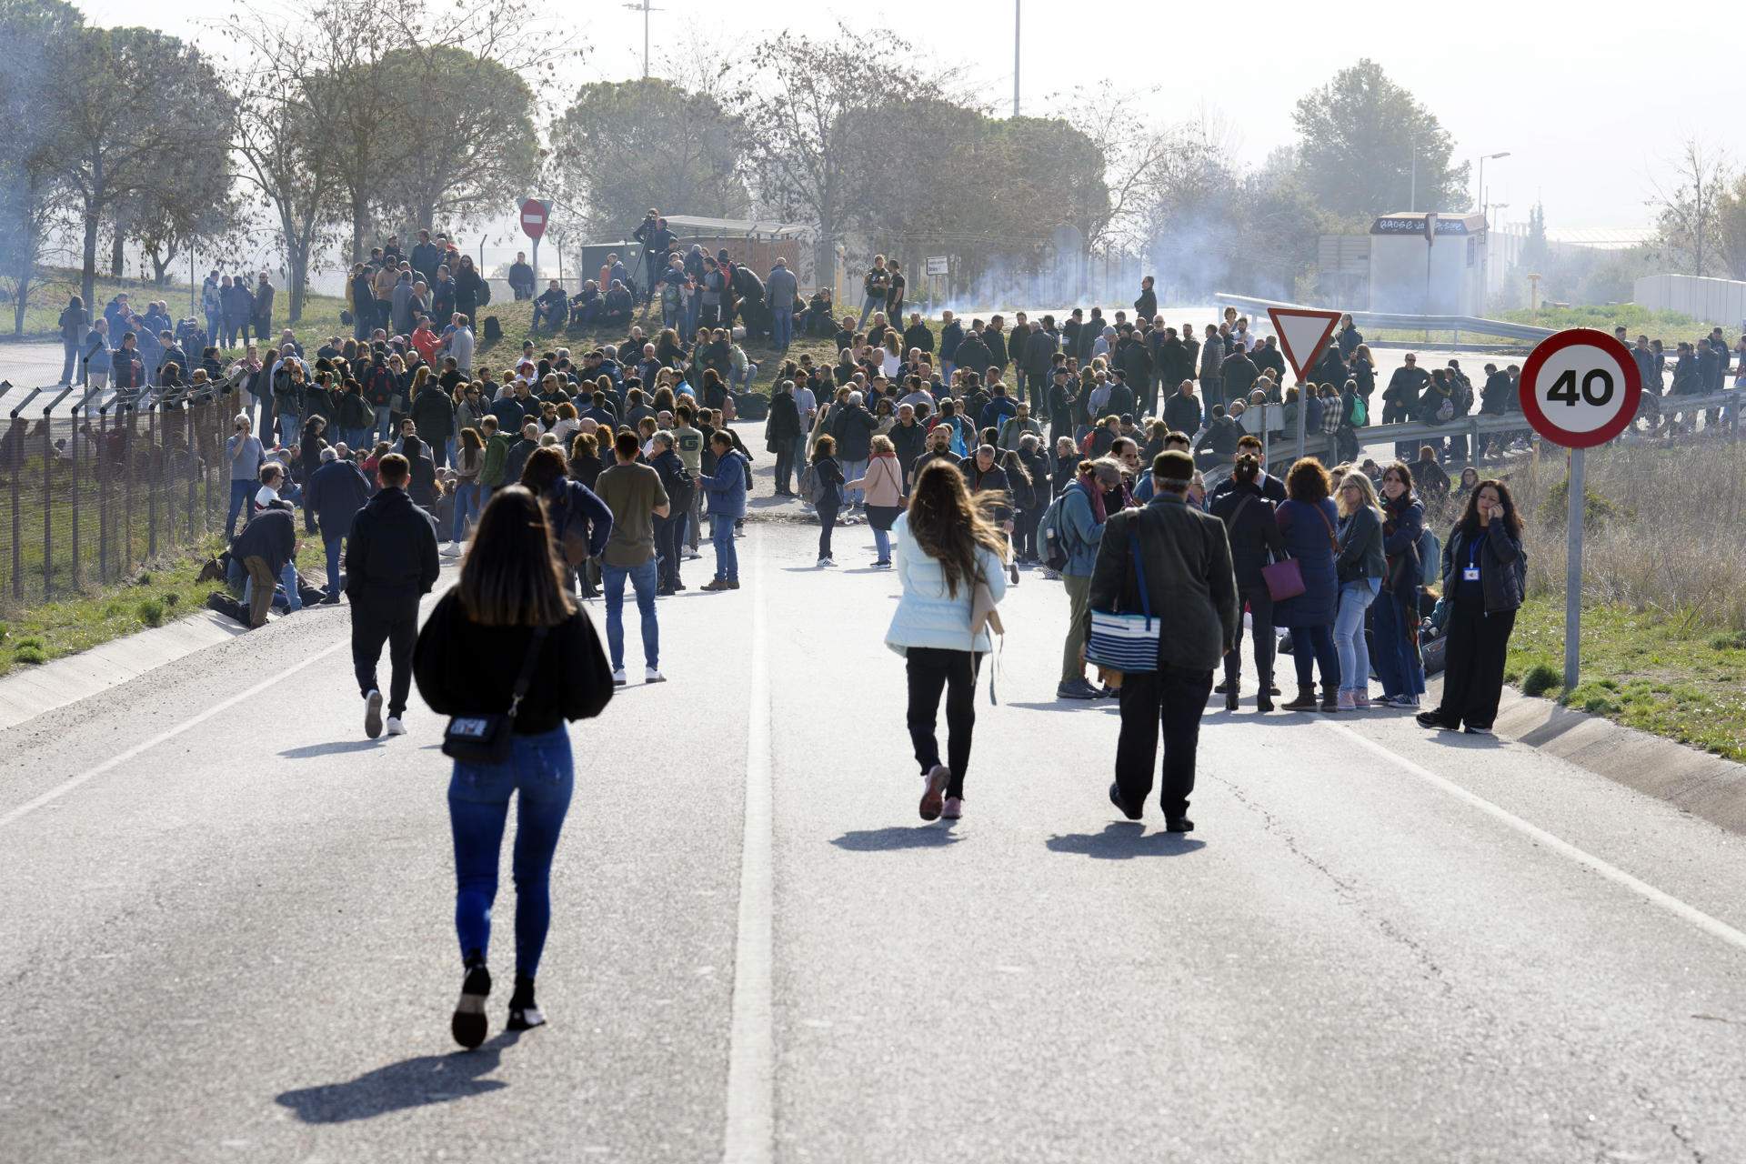
[[[1571,328],[1533,349],[1523,365],[1523,415],[1540,436],[1566,448],[1592,448],[1636,417],[1643,373],[1631,349],[1606,332]]]

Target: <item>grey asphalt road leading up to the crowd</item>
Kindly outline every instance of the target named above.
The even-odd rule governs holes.
[[[480,1052],[440,722],[363,738],[344,609],[0,731],[0,1159],[1746,1159],[1739,838],[1252,707],[1198,832],[1117,820],[1035,576],[924,825],[870,544],[756,525],[742,590],[662,600],[670,682],[573,731],[552,1024]]]

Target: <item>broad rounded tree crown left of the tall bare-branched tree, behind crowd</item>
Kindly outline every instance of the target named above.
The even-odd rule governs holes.
[[[650,206],[735,218],[742,126],[700,92],[650,77],[590,82],[552,126],[550,176],[592,237],[618,237]]]

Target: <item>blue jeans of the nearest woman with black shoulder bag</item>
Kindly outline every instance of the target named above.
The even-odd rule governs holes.
[[[569,729],[512,736],[501,764],[456,761],[449,778],[449,829],[454,834],[454,932],[461,958],[491,951],[491,906],[498,899],[503,824],[515,801],[515,969],[540,970],[552,928],[552,853],[564,829],[576,773]]]

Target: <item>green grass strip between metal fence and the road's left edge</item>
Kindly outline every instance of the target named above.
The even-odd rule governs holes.
[[[213,536],[192,550],[161,555],[124,583],[7,611],[0,621],[0,675],[16,667],[89,651],[199,611],[206,595],[222,585],[197,583],[194,576],[220,550],[223,537]],[[320,537],[302,536],[297,565],[306,578],[321,585],[327,578],[327,557]]]

